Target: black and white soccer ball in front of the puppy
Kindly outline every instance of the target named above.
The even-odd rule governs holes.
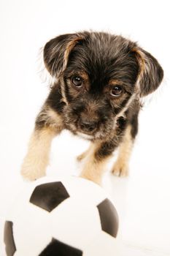
[[[26,184],[4,225],[7,256],[117,256],[117,211],[84,178]]]

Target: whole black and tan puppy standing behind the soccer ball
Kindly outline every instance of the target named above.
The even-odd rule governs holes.
[[[100,184],[112,152],[119,154],[112,173],[128,174],[138,130],[140,99],[163,79],[158,61],[135,42],[98,32],[63,34],[44,48],[53,77],[50,94],[36,118],[21,173],[45,176],[53,138],[63,129],[90,140],[81,176]]]

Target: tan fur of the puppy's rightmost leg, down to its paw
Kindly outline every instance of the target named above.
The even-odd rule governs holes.
[[[112,173],[116,176],[128,176],[128,162],[131,157],[131,150],[134,142],[131,138],[131,126],[125,130],[122,143],[120,143],[119,154],[115,165],[112,168]]]

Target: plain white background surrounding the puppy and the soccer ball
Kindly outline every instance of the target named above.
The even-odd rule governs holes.
[[[49,91],[37,72],[39,48],[58,34],[84,29],[122,34],[158,59],[165,78],[141,112],[129,178],[107,174],[104,187],[120,214],[121,255],[170,255],[169,23],[168,0],[0,1],[1,218],[24,186],[20,165]],[[48,173],[77,173],[74,157],[87,146],[63,132],[54,140]]]

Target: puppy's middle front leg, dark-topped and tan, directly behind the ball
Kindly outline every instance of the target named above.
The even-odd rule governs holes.
[[[117,145],[112,140],[109,142],[91,143],[80,176],[100,185],[107,161],[112,157],[112,152],[116,147]]]

